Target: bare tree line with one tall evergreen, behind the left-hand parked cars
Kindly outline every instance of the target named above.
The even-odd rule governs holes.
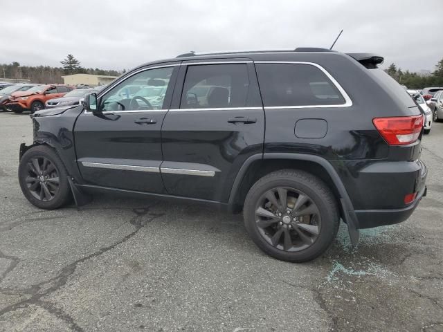
[[[123,71],[104,70],[99,68],[83,68],[73,55],[69,54],[61,62],[61,67],[52,66],[21,66],[19,62],[0,64],[0,77],[13,80],[30,80],[32,83],[63,83],[62,75],[93,74],[120,76]]]

